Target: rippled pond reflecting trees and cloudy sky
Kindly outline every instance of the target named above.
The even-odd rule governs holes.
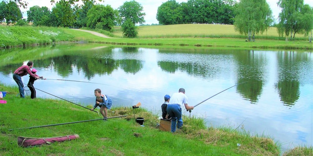
[[[179,88],[196,105],[248,81],[203,102],[191,115],[203,117],[208,126],[264,134],[282,150],[313,145],[312,51],[60,44],[1,50],[0,57],[2,83],[16,85],[12,73],[33,61],[38,75],[48,79],[36,80],[35,88],[82,105],[94,105],[94,90],[100,88],[114,106],[141,102],[159,115],[164,95]],[[28,79],[22,77],[25,84]],[[39,90],[37,97],[54,98]]]

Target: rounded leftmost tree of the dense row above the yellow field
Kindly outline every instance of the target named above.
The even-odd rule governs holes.
[[[182,6],[175,0],[169,0],[158,7],[156,19],[160,24],[181,24],[183,22]]]

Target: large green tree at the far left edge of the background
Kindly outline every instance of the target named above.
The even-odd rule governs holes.
[[[14,24],[19,19],[22,19],[22,12],[15,2],[0,3],[0,22],[5,21],[7,25]]]

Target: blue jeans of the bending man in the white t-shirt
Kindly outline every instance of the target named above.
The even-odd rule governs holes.
[[[182,108],[177,105],[167,105],[167,114],[172,117],[171,122],[171,132],[176,131],[176,121],[177,121],[177,129],[182,127]]]

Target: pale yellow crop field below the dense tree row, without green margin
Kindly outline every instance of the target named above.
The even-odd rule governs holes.
[[[122,36],[121,27],[114,27],[114,35]],[[240,35],[235,32],[233,25],[221,24],[177,24],[160,26],[139,26],[138,36],[160,36],[160,35],[199,35],[199,36],[232,36]],[[296,34],[297,35],[297,34]],[[275,27],[270,27],[267,32],[258,36],[279,37]],[[298,35],[300,37],[300,35]],[[301,35],[303,37],[303,35]]]

